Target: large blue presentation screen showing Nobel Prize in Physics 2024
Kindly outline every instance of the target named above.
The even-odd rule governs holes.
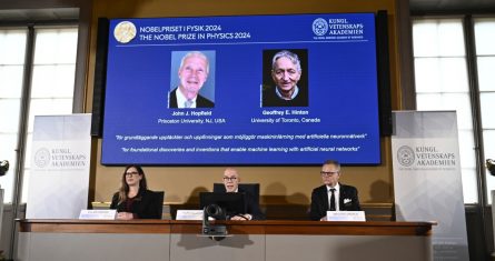
[[[380,161],[374,13],[110,20],[102,164]]]

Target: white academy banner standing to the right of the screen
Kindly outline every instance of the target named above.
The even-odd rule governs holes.
[[[392,153],[397,221],[437,221],[434,260],[469,260],[455,111],[396,111]]]

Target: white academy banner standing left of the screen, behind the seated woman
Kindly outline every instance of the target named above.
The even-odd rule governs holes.
[[[88,208],[91,116],[38,116],[27,219],[77,219]]]

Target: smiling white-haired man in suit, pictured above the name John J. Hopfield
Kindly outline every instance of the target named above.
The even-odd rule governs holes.
[[[179,87],[168,94],[168,108],[212,108],[215,103],[199,94],[208,79],[208,58],[199,51],[188,52],[179,67]]]

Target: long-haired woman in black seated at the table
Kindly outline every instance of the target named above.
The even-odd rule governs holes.
[[[111,199],[117,219],[161,219],[162,194],[148,190],[145,172],[139,165],[128,165],[121,185]]]

